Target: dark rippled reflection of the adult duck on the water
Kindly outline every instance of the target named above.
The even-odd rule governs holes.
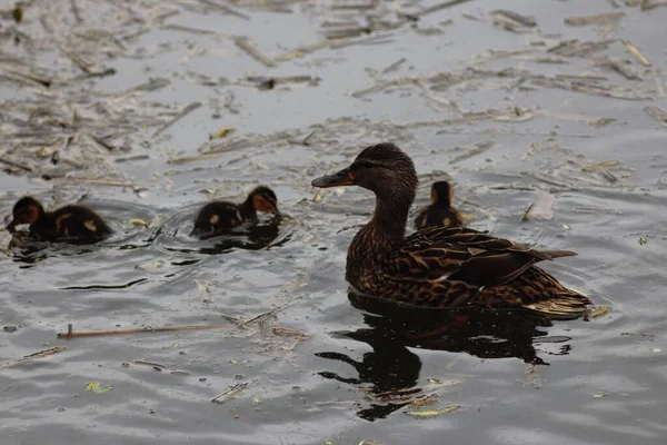
[[[467,353],[480,358],[516,357],[531,365],[549,365],[537,355],[536,344],[559,343],[558,353],[569,352],[568,337],[547,337],[551,326],[547,318],[515,310],[459,309],[416,313],[372,297],[349,293],[352,306],[365,312],[367,327],[354,332],[336,332],[338,338],[367,343],[372,352],[356,360],[342,353],[318,353],[318,357],[346,363],[358,377],[344,377],[332,372],[319,373],[325,378],[364,386],[374,400],[357,415],[367,421],[384,418],[408,405],[424,390],[418,387],[421,372],[419,356],[408,349],[421,348]]]

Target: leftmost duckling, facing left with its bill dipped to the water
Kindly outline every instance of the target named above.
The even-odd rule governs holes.
[[[37,199],[27,196],[18,200],[12,212],[13,220],[7,230],[13,234],[16,226],[29,224],[30,234],[39,240],[94,243],[112,234],[98,214],[83,206],[44,211]]]

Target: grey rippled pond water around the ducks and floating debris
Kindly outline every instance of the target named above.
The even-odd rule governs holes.
[[[195,0],[79,0],[81,22],[70,1],[39,3],[26,7],[21,23],[2,19],[3,31],[40,36],[30,48],[3,37],[7,63],[30,53],[31,63],[59,77],[81,72],[41,28],[46,16],[71,48],[91,30],[120,39],[81,49],[117,72],[50,89],[2,78],[8,141],[0,149],[18,140],[33,151],[47,144],[21,139],[12,120],[27,120],[46,107],[40,101],[68,117],[77,108],[86,131],[116,130],[122,119],[136,128],[115,139],[129,151],[63,150],[90,168],[43,179],[51,166],[38,162],[30,172],[0,176],[3,216],[28,192],[48,207],[83,198],[116,230],[94,246],[3,250],[0,326],[18,329],[0,332],[0,362],[67,349],[0,368],[2,445],[664,443],[667,139],[645,107],[667,109],[667,8],[469,1],[370,34],[389,33],[385,40],[359,43],[369,37],[361,34],[269,68],[232,36],[249,37],[275,58],[322,41],[331,22],[367,24],[364,17],[375,16],[377,28],[396,21],[397,11],[436,2],[275,2],[281,11],[262,6],[273,2],[212,2],[242,11],[245,20]],[[494,26],[499,8],[534,16],[537,27]],[[564,24],[605,12],[625,16],[616,24]],[[574,39],[608,43],[580,57],[549,51]],[[620,39],[651,65],[640,65]],[[638,79],[605,68],[605,57],[627,60]],[[436,77],[447,72],[466,78]],[[247,76],[319,81],[261,90]],[[169,85],[128,92],[151,78]],[[546,87],[545,78],[561,88]],[[201,106],[160,130],[193,101]],[[202,144],[221,126],[236,131],[210,142],[218,155],[182,159],[208,149]],[[450,178],[456,201],[475,217],[471,227],[578,251],[545,268],[611,310],[571,322],[489,312],[399,316],[348,296],[346,250],[372,211],[372,196],[329,189],[313,198],[309,184],[386,140],[416,162],[416,208],[432,180]],[[596,166],[606,161],[614,162]],[[202,202],[241,201],[258,184],[273,188],[288,218],[265,218],[223,238],[187,236]],[[556,196],[554,218],[522,222],[538,190]],[[1,231],[0,243],[9,240]],[[262,323],[231,322],[275,308]],[[76,332],[230,327],[57,339],[69,323]],[[98,394],[86,389],[89,382],[113,387]],[[248,386],[211,403],[237,384]],[[416,411],[409,402],[426,395],[437,402],[420,409],[458,409],[407,415]]]

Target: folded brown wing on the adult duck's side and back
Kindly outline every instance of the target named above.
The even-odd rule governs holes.
[[[538,261],[577,255],[540,251],[464,227],[431,227],[406,238],[391,258],[395,274],[406,278],[457,280],[477,286],[508,283]]]

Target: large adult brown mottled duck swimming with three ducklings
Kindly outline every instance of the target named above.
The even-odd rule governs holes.
[[[376,195],[370,221],[355,236],[346,279],[359,293],[429,308],[522,307],[559,317],[585,312],[591,301],[535,266],[576,255],[538,251],[464,227],[429,227],[405,236],[415,200],[412,160],[392,144],[366,148],[313,187],[359,186]]]

